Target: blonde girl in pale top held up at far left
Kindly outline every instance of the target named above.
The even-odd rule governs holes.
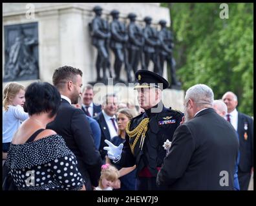
[[[3,91],[3,153],[7,153],[21,122],[28,118],[23,110],[25,88],[17,82],[6,84]]]

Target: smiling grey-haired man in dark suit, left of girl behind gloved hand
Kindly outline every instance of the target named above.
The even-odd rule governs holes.
[[[111,140],[114,136],[118,136],[118,124],[116,122],[116,111],[118,109],[118,100],[114,94],[107,94],[103,100],[102,111],[94,119],[100,124],[101,140],[100,154],[102,163],[105,164],[105,156],[107,152],[103,147],[107,146],[104,140]]]

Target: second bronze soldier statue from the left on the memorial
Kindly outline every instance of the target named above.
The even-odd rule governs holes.
[[[125,62],[125,42],[128,40],[128,34],[125,28],[125,24],[118,21],[119,19],[118,10],[112,10],[112,22],[111,22],[111,49],[114,52],[114,73],[116,75],[116,82],[120,82],[120,71],[122,64]],[[129,69],[129,68],[128,68]],[[131,72],[129,72],[130,74]],[[128,76],[128,81],[131,78]]]

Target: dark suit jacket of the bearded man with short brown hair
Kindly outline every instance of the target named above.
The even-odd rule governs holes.
[[[76,155],[78,170],[85,179],[86,189],[91,189],[91,184],[98,186],[101,171],[100,154],[94,146],[92,131],[85,113],[61,98],[57,116],[53,122],[47,124],[47,129],[53,129],[61,135]]]

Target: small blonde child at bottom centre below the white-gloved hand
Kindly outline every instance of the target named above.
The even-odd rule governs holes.
[[[101,166],[101,176],[98,187],[95,188],[96,191],[112,191],[116,188],[116,183],[118,183],[119,172],[116,167],[105,164]]]

